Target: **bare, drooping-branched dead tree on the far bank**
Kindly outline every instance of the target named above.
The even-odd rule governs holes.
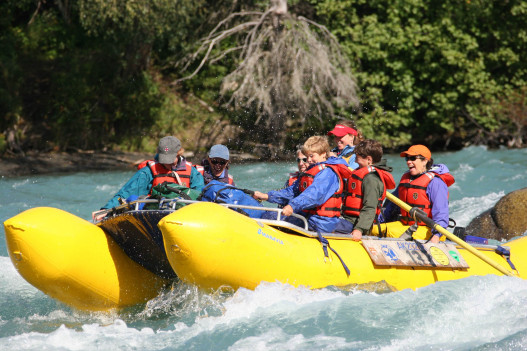
[[[236,38],[238,45],[220,51],[227,38]],[[336,109],[358,105],[355,78],[336,38],[325,26],[290,14],[286,0],[271,0],[265,12],[231,13],[183,66],[186,70],[201,58],[197,68],[174,83],[235,52],[238,65],[222,81],[224,106],[252,116],[254,130],[265,132],[259,140],[272,148],[283,148],[291,122],[323,124],[336,117]]]

